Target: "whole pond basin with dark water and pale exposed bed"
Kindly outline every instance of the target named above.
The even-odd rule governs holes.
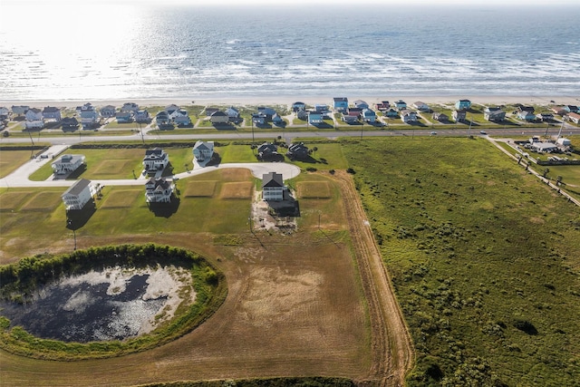
[[[24,305],[0,301],[0,315],[37,337],[88,343],[149,333],[183,301],[195,301],[188,270],[117,266],[64,276]]]

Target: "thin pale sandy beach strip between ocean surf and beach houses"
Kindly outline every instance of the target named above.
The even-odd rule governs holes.
[[[202,105],[202,106],[254,106],[254,105],[292,105],[294,102],[304,102],[308,105],[314,105],[319,103],[326,103],[329,106],[333,104],[333,98],[336,96],[280,96],[280,97],[263,97],[263,96],[248,96],[243,98],[237,97],[223,97],[223,98],[150,98],[150,99],[106,99],[106,100],[23,100],[23,101],[12,101],[12,100],[0,100],[0,106],[10,108],[14,105],[26,105],[33,108],[43,108],[46,106],[55,106],[59,108],[75,108],[84,103],[91,102],[93,106],[102,107],[105,105],[113,105],[120,107],[125,102],[135,102],[140,106],[167,106],[169,104],[176,104],[178,106],[191,106],[191,105]],[[440,95],[440,96],[420,96],[420,95],[400,95],[400,96],[348,96],[340,95],[339,97],[348,98],[349,103],[356,100],[362,100],[368,102],[372,106],[377,102],[389,101],[395,102],[397,100],[403,100],[411,105],[413,102],[424,102],[427,104],[449,104],[454,103],[460,99],[467,99],[474,104],[482,105],[507,105],[521,103],[524,105],[579,105],[580,96],[571,97],[566,95]]]

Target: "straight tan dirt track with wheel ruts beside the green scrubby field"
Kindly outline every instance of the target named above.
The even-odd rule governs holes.
[[[381,386],[403,386],[405,374],[414,363],[411,334],[391,285],[391,276],[372,236],[352,177],[343,171],[335,175],[343,196],[354,254],[369,306],[372,329],[370,381]]]

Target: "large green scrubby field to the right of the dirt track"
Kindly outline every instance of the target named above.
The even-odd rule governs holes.
[[[580,380],[578,208],[481,139],[344,154],[411,327],[409,385]]]

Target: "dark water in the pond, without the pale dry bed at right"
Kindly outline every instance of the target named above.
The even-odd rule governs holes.
[[[166,295],[143,299],[149,277],[131,276],[124,290],[113,294],[107,294],[111,284],[106,282],[47,285],[30,304],[0,301],[0,315],[37,337],[80,343],[122,340],[140,334],[167,301]]]

